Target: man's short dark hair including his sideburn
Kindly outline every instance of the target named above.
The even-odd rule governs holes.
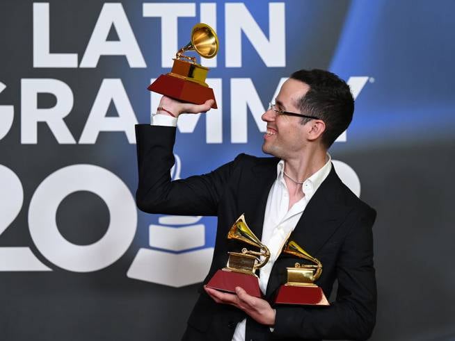
[[[310,86],[298,105],[303,114],[319,117],[326,124],[322,143],[326,148],[348,128],[354,113],[354,99],[349,85],[332,72],[312,69],[299,70],[291,78]],[[310,119],[304,118],[302,123]]]

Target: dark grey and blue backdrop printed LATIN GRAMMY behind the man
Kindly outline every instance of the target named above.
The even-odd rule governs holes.
[[[149,123],[191,28],[218,33],[218,109],[179,118],[174,179],[262,156],[261,115],[298,69],[356,98],[330,149],[378,211],[372,340],[455,340],[454,1],[0,3],[0,340],[179,340],[216,217],[136,208]],[[191,53],[188,53],[191,55]],[[195,55],[193,53],[193,55]]]

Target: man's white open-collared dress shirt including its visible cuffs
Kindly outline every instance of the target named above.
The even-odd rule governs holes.
[[[152,125],[177,126],[177,117],[152,115]],[[267,198],[264,226],[262,227],[262,243],[266,244],[270,250],[269,261],[260,269],[259,286],[263,294],[266,292],[271,269],[278,256],[280,256],[282,247],[289,235],[294,231],[308,202],[330,173],[332,169],[330,161],[330,155],[327,154],[326,164],[303,182],[303,198],[294,203],[292,208],[289,208],[289,190],[287,190],[284,178],[285,161],[280,160],[276,166],[277,176]],[[245,332],[246,319],[243,319],[237,324],[232,341],[245,341]]]

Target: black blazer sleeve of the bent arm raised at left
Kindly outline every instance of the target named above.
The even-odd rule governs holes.
[[[216,215],[237,159],[209,174],[171,181],[175,134],[175,127],[136,125],[138,208],[169,215]]]

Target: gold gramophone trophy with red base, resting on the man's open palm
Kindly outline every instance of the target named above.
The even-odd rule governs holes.
[[[226,267],[214,274],[207,283],[207,287],[225,292],[235,292],[236,287],[241,287],[251,296],[261,297],[259,280],[255,271],[269,261],[269,249],[250,230],[244,215],[241,215],[232,225],[227,233],[227,239],[245,242],[257,247],[260,251],[250,251],[244,247],[241,252],[228,252],[229,259]],[[261,257],[263,257],[262,260]]]

